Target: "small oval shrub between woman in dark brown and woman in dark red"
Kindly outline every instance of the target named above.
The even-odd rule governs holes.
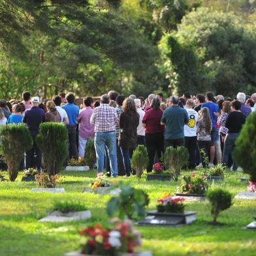
[[[138,145],[136,150],[133,152],[133,157],[131,158],[131,167],[136,171],[136,176],[140,179],[143,170],[148,165],[148,152],[146,147],[143,145]]]

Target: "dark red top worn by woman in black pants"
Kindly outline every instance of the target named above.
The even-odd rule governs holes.
[[[161,118],[163,116],[163,110],[151,108],[148,110],[142,123],[146,123],[146,133],[164,133],[165,126],[161,125]]]

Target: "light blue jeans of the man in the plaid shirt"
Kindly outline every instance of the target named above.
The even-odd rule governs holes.
[[[110,159],[110,171],[112,176],[118,176],[118,161],[116,156],[116,133],[96,133],[94,146],[97,157],[97,170],[99,172],[103,172],[104,170],[104,155],[105,155],[105,147],[108,152],[108,156]]]

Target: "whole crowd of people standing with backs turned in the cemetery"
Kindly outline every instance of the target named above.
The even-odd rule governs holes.
[[[94,138],[97,171],[104,169],[113,177],[131,176],[131,157],[138,145],[148,151],[147,172],[161,162],[165,148],[185,146],[189,152],[188,168],[214,167],[218,163],[237,170],[232,157],[234,142],[240,135],[246,118],[256,110],[256,93],[238,93],[235,99],[206,95],[164,99],[162,93],[147,99],[130,95],[125,98],[116,91],[102,95],[93,102],[75,102],[73,93],[60,93],[52,101],[40,102],[29,92],[22,101],[0,100],[0,125],[26,123],[33,138],[33,148],[25,152],[24,168],[42,168],[42,153],[35,137],[44,121],[63,123],[69,135],[69,158],[84,158],[86,144]]]

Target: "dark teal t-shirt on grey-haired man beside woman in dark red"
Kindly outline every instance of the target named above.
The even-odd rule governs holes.
[[[184,138],[184,125],[189,122],[187,110],[180,106],[170,106],[163,112],[161,122],[165,123],[165,140]]]

